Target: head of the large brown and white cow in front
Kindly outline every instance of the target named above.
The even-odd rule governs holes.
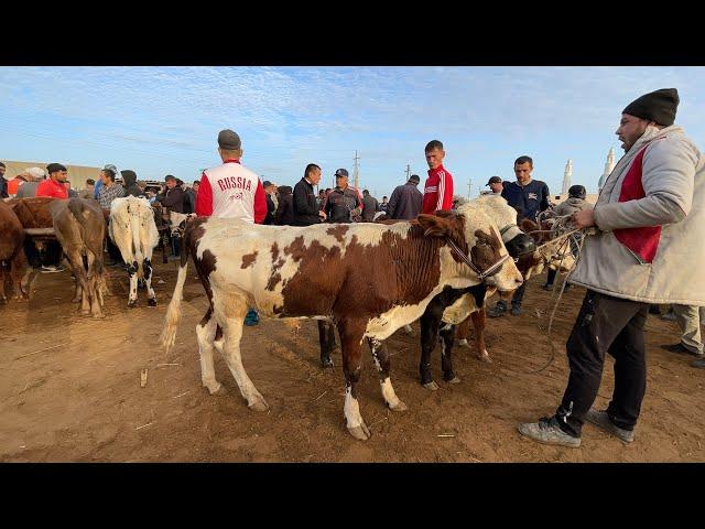
[[[482,210],[473,209],[466,214],[440,210],[434,215],[419,215],[416,220],[426,236],[446,240],[448,253],[444,259],[448,267],[460,267],[460,277],[464,279],[475,284],[480,282],[477,272],[466,264],[465,258],[480,272],[491,270],[503,260],[482,282],[502,291],[514,290],[522,283],[521,273],[512,259],[505,259],[509,256],[499,236],[499,228]]]

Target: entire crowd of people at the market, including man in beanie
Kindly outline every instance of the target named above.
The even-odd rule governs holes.
[[[705,367],[701,337],[705,283],[666,261],[668,256],[697,261],[704,251],[699,240],[705,214],[704,160],[683,129],[674,125],[679,101],[676,89],[661,89],[641,96],[622,110],[616,134],[625,155],[595,205],[586,202],[583,185],[574,185],[566,201],[553,205],[546,183],[532,177],[534,162],[528,155],[514,160],[514,181],[492,176],[487,183],[492,195],[517,209],[518,224],[551,212],[570,219],[575,228],[596,230],[585,238],[571,276],[571,283],[586,288],[587,293],[566,344],[567,387],[551,418],[519,427],[529,439],[579,446],[582,427],[590,421],[625,442],[633,440],[647,382],[643,330],[647,315],[659,305],[670,306],[668,314],[682,330],[681,342],[666,348],[694,355],[697,359],[693,366]],[[429,172],[423,192],[419,190],[420,176],[412,174],[393,190],[389,201],[384,196],[381,203],[367,190],[360,193],[350,186],[348,171],[343,168],[334,173],[335,187],[317,193],[314,188],[323,170],[316,163],[305,166],[293,188],[262,182],[242,164],[242,142],[235,131],[220,131],[217,143],[221,164],[205,170],[192,187],[166,175],[161,192],[147,191],[131,170],[121,171],[122,182],[118,183],[117,168],[108,164],[97,182],[86,182],[79,196],[97,199],[106,217],[112,201],[133,195],[178,213],[276,226],[373,222],[382,216],[410,220],[422,213],[453,209],[453,175],[444,166],[445,148],[438,140],[430,141],[424,149]],[[3,164],[0,171],[4,173]],[[2,196],[69,197],[66,168],[52,163],[46,173],[44,177],[42,170],[33,168],[10,182],[0,179]],[[116,248],[109,247],[108,251],[118,262]],[[56,263],[45,268],[52,264]],[[544,289],[554,287],[555,276],[549,273]],[[489,316],[521,315],[525,284],[513,293],[511,309],[500,300],[488,311]],[[251,309],[246,323],[257,322],[257,312]],[[324,338],[335,341],[333,327],[322,324],[319,332],[322,343]],[[333,335],[323,336],[326,333]],[[615,358],[615,390],[609,407],[595,410],[606,353]]]

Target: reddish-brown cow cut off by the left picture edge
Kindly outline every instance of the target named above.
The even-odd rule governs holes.
[[[2,176],[0,176],[2,177]],[[0,301],[7,302],[6,268],[12,279],[12,298],[26,299],[21,278],[26,259],[24,257],[24,228],[12,208],[0,201]]]

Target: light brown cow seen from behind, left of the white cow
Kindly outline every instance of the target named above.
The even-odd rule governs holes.
[[[82,314],[105,317],[102,292],[106,280],[102,242],[106,237],[106,223],[99,204],[93,199],[69,198],[52,202],[48,209],[56,238],[76,278],[74,301],[80,299]],[[84,256],[86,263],[84,263]]]

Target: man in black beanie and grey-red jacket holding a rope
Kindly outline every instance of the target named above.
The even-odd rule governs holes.
[[[571,282],[587,293],[566,349],[571,375],[555,414],[521,424],[546,444],[579,446],[585,420],[633,441],[647,389],[643,327],[651,303],[705,305],[705,159],[673,125],[675,88],[646,94],[622,110],[616,133],[625,155],[595,209],[574,214],[586,237]],[[691,266],[688,266],[688,263]],[[615,358],[615,390],[605,411],[590,409],[605,353]]]

